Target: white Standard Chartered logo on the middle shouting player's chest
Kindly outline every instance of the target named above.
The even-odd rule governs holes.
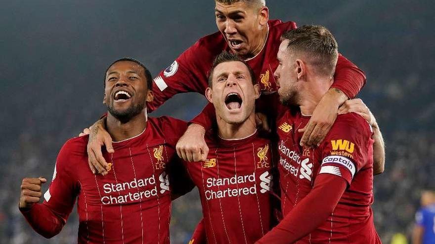
[[[264,172],[260,175],[260,192],[265,193],[270,191],[272,187],[272,175],[269,172]],[[207,200],[237,197],[243,195],[257,194],[255,172],[248,175],[234,175],[227,178],[210,177],[206,180],[205,197]],[[248,186],[246,186],[249,184]],[[217,190],[210,188],[219,187]]]

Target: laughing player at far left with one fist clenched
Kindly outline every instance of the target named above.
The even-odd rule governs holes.
[[[23,179],[19,209],[36,232],[46,238],[58,234],[77,199],[80,244],[170,243],[171,197],[178,194],[172,186],[191,189],[187,179],[170,187],[168,175],[178,165],[175,142],[186,123],[147,118],[145,102],[153,100],[151,79],[145,66],[130,58],[106,70],[106,129],[116,149],[103,152],[110,162],[106,176],[89,171],[88,137],[83,136],[68,140],[60,150],[43,204],[39,201],[46,179]],[[174,175],[182,175],[179,169]]]

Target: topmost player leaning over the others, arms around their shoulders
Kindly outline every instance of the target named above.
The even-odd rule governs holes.
[[[217,33],[199,39],[184,51],[171,66],[162,70],[154,78],[155,99],[148,103],[149,111],[157,109],[175,94],[197,92],[205,94],[207,77],[213,60],[226,50],[238,55],[254,70],[255,81],[261,89],[261,98],[257,100],[257,111],[274,116],[278,95],[272,73],[278,66],[276,54],[281,35],[295,29],[292,21],[269,20],[269,9],[265,0],[215,0]],[[324,138],[337,116],[337,109],[348,98],[353,98],[365,83],[365,75],[342,55],[339,55],[334,83],[323,96],[313,112],[304,133],[302,143],[316,145]],[[211,128],[215,119],[213,105],[193,120],[177,148],[183,151],[185,160],[204,161],[209,149],[205,143],[204,127]],[[201,126],[200,126],[201,125]],[[104,122],[95,124],[104,128]],[[111,139],[103,130],[100,134],[91,132],[88,153],[92,155],[90,167],[93,171],[106,174],[108,167],[101,156],[101,146],[112,150]],[[309,140],[308,140],[309,139]],[[181,156],[181,155],[180,155]],[[95,168],[94,168],[95,167]]]

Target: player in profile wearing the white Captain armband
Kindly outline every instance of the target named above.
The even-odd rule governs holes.
[[[291,30],[282,39],[274,75],[287,105],[278,121],[284,219],[257,243],[381,243],[370,207],[373,153],[383,151],[379,127],[355,110],[339,115],[318,147],[300,146],[298,129],[333,84],[337,42],[320,26]]]

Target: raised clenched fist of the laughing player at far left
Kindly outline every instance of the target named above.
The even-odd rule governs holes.
[[[21,184],[20,209],[30,209],[41,199],[41,185],[47,182],[43,177],[24,178]]]

